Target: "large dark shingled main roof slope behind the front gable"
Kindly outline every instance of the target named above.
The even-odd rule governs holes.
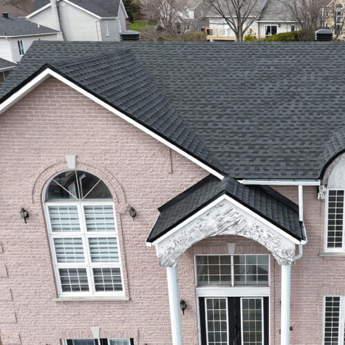
[[[316,179],[333,151],[345,148],[340,143],[325,158],[326,143],[345,128],[344,74],[332,62],[342,61],[343,42],[40,41],[12,70],[0,97],[44,63],[124,46],[137,61],[128,68],[147,74],[203,143],[201,159],[207,150],[231,177]]]

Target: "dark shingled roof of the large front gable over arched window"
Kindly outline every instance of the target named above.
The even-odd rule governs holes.
[[[168,103],[129,48],[118,47],[92,55],[50,61],[32,74],[28,83],[46,69],[57,72],[91,95],[149,128],[170,143],[219,171],[217,160],[195,135],[177,110]],[[19,89],[21,86],[19,86]],[[10,97],[10,94],[0,99]]]

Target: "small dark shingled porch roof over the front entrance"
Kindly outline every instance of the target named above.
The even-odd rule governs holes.
[[[304,239],[298,206],[292,201],[270,187],[246,186],[231,177],[220,181],[217,177],[209,175],[159,208],[159,217],[147,241],[154,242],[224,194],[268,219],[289,235],[299,240]]]

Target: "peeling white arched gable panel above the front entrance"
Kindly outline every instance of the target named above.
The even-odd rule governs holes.
[[[282,231],[282,230],[281,230]],[[160,266],[171,267],[193,244],[216,235],[239,235],[253,239],[266,247],[279,265],[290,265],[295,257],[295,242],[284,236],[272,224],[257,219],[250,210],[239,207],[229,199],[222,199],[199,217],[156,242]]]

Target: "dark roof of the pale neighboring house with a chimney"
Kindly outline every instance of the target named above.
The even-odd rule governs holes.
[[[75,5],[99,17],[117,17],[121,0],[70,0]],[[50,0],[35,0],[30,13],[48,5]]]

